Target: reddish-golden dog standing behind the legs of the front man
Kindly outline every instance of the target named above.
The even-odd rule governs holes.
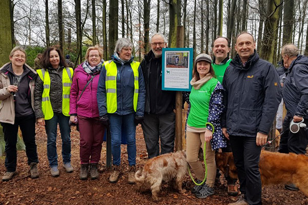
[[[216,166],[231,178],[238,178],[232,152],[216,153]],[[308,157],[261,151],[259,169],[262,186],[294,183],[308,197]]]

